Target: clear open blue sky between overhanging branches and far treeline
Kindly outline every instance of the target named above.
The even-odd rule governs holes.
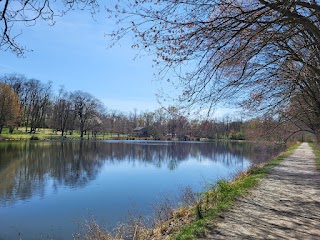
[[[111,42],[105,34],[115,23],[103,10],[94,18],[86,11],[71,11],[57,18],[54,26],[41,21],[33,27],[22,25],[18,41],[32,51],[24,58],[1,52],[0,75],[20,73],[52,81],[55,90],[63,85],[68,91],[86,91],[108,109],[123,112],[159,108],[156,93],[161,88],[175,94],[165,81],[155,80],[152,56],[137,56],[129,36],[108,47]],[[215,115],[221,117],[228,112],[220,108]]]

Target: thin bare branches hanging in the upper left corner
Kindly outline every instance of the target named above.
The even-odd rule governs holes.
[[[30,27],[37,21],[45,21],[53,25],[57,17],[75,8],[88,9],[94,14],[99,9],[99,4],[97,0],[5,0],[3,3],[0,1],[0,51],[11,51],[17,56],[25,53],[26,48],[17,42],[22,33],[17,23],[21,22]]]

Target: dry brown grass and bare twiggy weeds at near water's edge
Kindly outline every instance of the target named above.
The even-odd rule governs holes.
[[[152,226],[142,216],[129,214],[129,221],[118,224],[112,231],[101,227],[95,220],[83,224],[83,232],[74,234],[74,240],[167,240],[182,226],[191,223],[196,217],[194,205],[198,200],[190,187],[180,190],[178,197],[164,195],[162,200],[153,204],[154,219]],[[176,203],[182,206],[176,208]]]

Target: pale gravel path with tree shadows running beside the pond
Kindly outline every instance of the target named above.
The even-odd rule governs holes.
[[[320,239],[320,171],[308,144],[221,216],[206,239]]]

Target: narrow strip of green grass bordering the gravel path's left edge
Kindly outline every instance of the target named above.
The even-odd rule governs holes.
[[[300,144],[295,144],[285,152],[278,155],[270,162],[251,168],[246,173],[239,174],[233,181],[220,180],[202,193],[199,204],[195,207],[196,221],[183,227],[179,233],[173,236],[173,240],[193,240],[205,236],[206,226],[212,225],[222,212],[229,209],[237,198],[243,196],[249,189],[265,177],[269,170],[281,163]],[[320,153],[320,152],[319,152]],[[201,211],[199,213],[199,210]]]

